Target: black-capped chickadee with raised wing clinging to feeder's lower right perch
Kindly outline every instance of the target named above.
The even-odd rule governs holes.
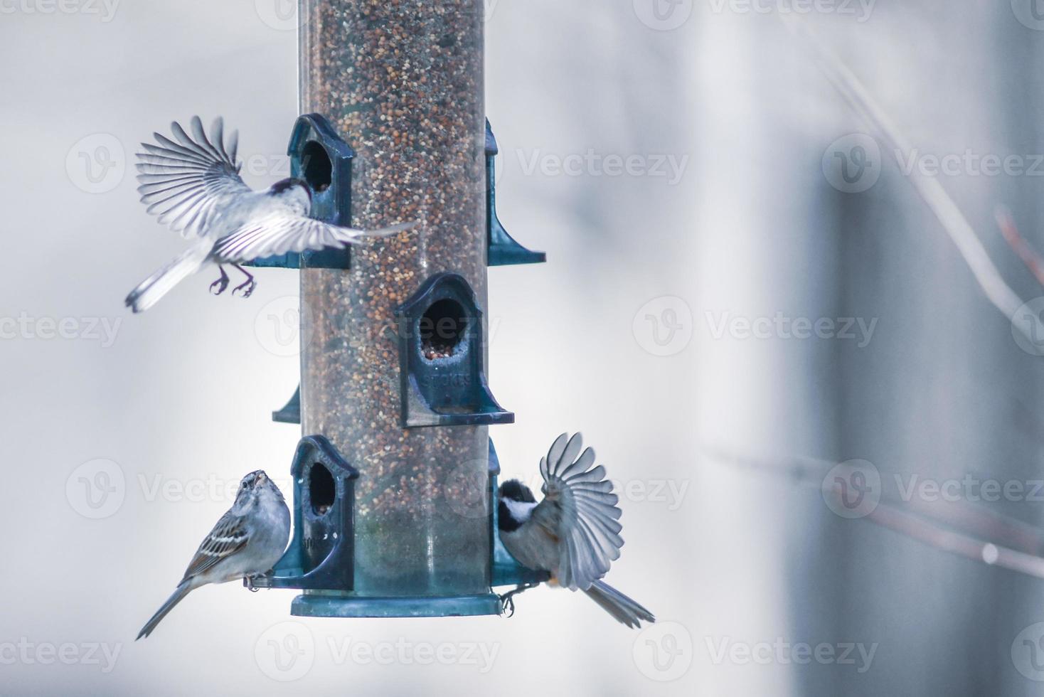
[[[601,580],[620,557],[621,514],[606,468],[594,464],[594,451],[579,433],[563,433],[540,461],[544,500],[537,503],[518,480],[500,485],[497,527],[500,540],[519,563],[550,573],[549,585],[583,591],[607,612],[628,627],[642,620],[656,622],[652,612]],[[578,456],[578,457],[577,457]],[[514,607],[514,596],[539,584],[519,586],[502,597]]]

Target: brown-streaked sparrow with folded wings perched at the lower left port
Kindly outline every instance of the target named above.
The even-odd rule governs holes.
[[[151,634],[156,625],[190,591],[208,583],[251,579],[268,573],[283,555],[289,538],[290,509],[283,492],[260,470],[246,475],[239,483],[236,502],[199,545],[182,582],[145,623],[138,639]]]

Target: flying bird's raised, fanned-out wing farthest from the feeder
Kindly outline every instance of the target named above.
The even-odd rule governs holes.
[[[185,237],[201,237],[230,201],[251,189],[239,177],[237,131],[226,144],[220,118],[210,127],[210,138],[198,116],[189,127],[191,136],[175,121],[170,128],[176,142],[153,134],[156,145],[141,144],[145,151],[138,153],[138,192],[160,222]]]

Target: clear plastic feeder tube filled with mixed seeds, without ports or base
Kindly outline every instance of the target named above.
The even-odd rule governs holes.
[[[395,315],[441,271],[487,305],[483,3],[301,0],[301,110],[355,149],[352,224],[420,223],[301,272],[303,431],[360,475],[353,595],[489,594],[487,427],[403,427]]]

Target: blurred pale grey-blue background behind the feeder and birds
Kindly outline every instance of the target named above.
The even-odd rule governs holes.
[[[1044,584],[984,561],[1044,549],[1044,341],[1019,327],[1044,301],[998,311],[912,185],[952,196],[1019,303],[1044,295],[995,221],[1044,246],[1040,4],[487,0],[498,210],[548,254],[490,270],[518,415],[491,434],[531,478],[585,433],[624,511],[608,580],[660,622],[546,588],[509,620],[298,619],[293,592],[234,583],[136,644],[300,433],[269,420],[296,272],[123,308],[183,248],[134,152],[222,115],[248,184],[287,176],[296,24],[277,0],[0,0],[0,691],[1038,693]],[[898,157],[781,19],[851,68]],[[932,514],[882,526],[886,505]],[[969,518],[971,553],[915,538]]]

